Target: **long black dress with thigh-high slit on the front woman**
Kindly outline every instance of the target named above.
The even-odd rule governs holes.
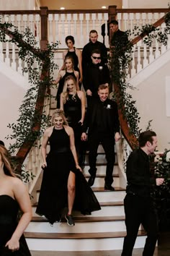
[[[47,168],[44,170],[40,197],[36,213],[45,216],[53,224],[60,221],[63,208],[68,204],[68,175],[76,174],[76,198],[74,209],[83,214],[100,210],[99,202],[81,171],[76,169],[70,150],[70,138],[65,129],[53,129],[49,138],[50,153],[47,156]]]

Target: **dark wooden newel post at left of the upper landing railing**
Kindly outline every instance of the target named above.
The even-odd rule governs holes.
[[[41,17],[41,50],[46,50],[48,45],[48,7],[40,7]]]

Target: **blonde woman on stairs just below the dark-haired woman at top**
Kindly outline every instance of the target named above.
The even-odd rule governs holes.
[[[61,93],[63,92],[64,81],[68,75],[72,75],[75,78],[76,89],[79,90],[79,72],[73,69],[73,58],[71,56],[66,56],[64,59],[64,69],[58,73],[58,77],[54,82],[55,84],[58,84],[59,82],[58,92],[56,95],[57,108],[60,108]]]

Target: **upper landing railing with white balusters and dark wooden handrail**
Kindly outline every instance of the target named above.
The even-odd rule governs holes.
[[[109,47],[107,21],[117,20],[120,30],[133,30],[134,26],[153,24],[169,12],[169,9],[86,9],[48,10],[40,7],[36,11],[0,11],[1,22],[12,22],[20,32],[25,27],[35,35],[39,46],[47,42],[60,41],[59,48],[66,48],[65,38],[73,35],[77,48],[83,48],[89,41],[89,31],[97,30],[99,41],[103,41],[102,24],[105,23],[105,44]],[[40,43],[41,42],[41,43]]]

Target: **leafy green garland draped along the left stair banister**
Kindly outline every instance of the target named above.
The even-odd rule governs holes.
[[[10,38],[7,38],[9,35]],[[32,35],[30,28],[26,28],[20,34],[17,27],[11,23],[1,23],[0,20],[0,41],[15,43],[19,48],[19,58],[25,62],[23,72],[28,74],[30,88],[24,96],[22,106],[19,108],[19,119],[17,124],[9,124],[12,134],[6,139],[14,140],[10,144],[9,152],[14,154],[23,142],[35,142],[41,137],[44,129],[49,125],[50,116],[40,111],[44,107],[35,108],[37,97],[42,97],[42,88],[48,90],[53,81],[53,70],[58,69],[58,65],[53,62],[54,51],[58,48],[58,42],[48,45],[47,50],[41,51],[37,47],[37,42]],[[42,72],[42,74],[41,74]],[[50,97],[47,95],[46,97]],[[41,129],[35,129],[39,125]]]

